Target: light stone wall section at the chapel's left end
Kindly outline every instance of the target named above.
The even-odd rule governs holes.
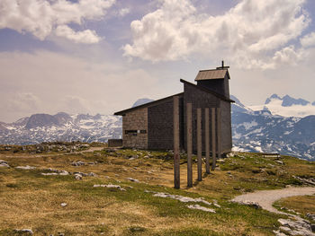
[[[131,130],[137,132],[126,134]],[[124,147],[148,149],[148,108],[132,110],[122,117],[122,140]]]

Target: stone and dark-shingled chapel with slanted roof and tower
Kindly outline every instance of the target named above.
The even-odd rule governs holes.
[[[229,153],[232,148],[230,103],[234,101],[229,99],[228,69],[229,66],[224,66],[222,61],[222,66],[216,69],[199,71],[195,78],[197,84],[181,79],[180,82],[184,84],[184,92],[114,113],[114,115],[122,116],[123,146],[149,150],[173,149],[173,98],[178,96],[180,149],[186,149],[186,104],[192,103],[193,151],[197,149],[197,108],[202,109],[202,150],[205,146],[204,108],[209,108],[210,112],[211,108],[216,108],[220,111],[220,116],[216,116],[215,122],[216,124],[220,122],[220,129],[216,126],[216,139],[220,138],[220,140],[216,142],[220,144],[221,153]],[[220,130],[219,135],[218,130]]]

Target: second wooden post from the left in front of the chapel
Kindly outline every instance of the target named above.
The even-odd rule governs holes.
[[[192,103],[187,103],[187,187],[193,187],[193,128],[192,128]]]

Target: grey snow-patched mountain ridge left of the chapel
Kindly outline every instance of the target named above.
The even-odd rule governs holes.
[[[121,138],[121,117],[78,114],[35,114],[14,123],[0,123],[0,144],[38,144],[52,141],[107,142]]]

